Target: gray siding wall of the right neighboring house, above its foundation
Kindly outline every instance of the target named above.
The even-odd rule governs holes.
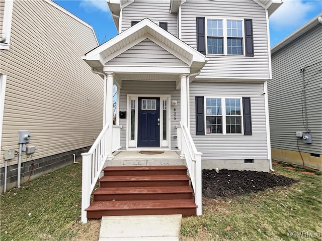
[[[272,148],[297,151],[296,132],[305,132],[302,119],[302,74],[304,71],[308,129],[312,144],[299,140],[300,150],[322,154],[322,63],[321,25],[272,55],[273,79],[268,82]]]

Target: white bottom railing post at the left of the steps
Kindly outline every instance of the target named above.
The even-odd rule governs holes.
[[[90,206],[90,201],[91,201],[91,194],[90,194],[91,157],[92,155],[87,155],[87,156],[84,155],[83,161],[82,161],[82,222],[83,223],[87,223],[87,211],[85,211],[85,209]]]

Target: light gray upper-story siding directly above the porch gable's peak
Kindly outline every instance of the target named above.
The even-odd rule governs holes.
[[[158,25],[168,23],[168,32],[178,36],[178,16],[170,13],[170,0],[138,0],[122,9],[122,32],[131,27],[131,21],[148,18]]]

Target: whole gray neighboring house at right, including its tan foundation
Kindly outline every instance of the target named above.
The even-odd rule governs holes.
[[[304,161],[305,166],[319,170],[322,170],[321,18],[321,14],[316,16],[272,48],[273,79],[268,82],[273,158],[299,165]],[[296,132],[309,132],[312,144],[304,144]]]

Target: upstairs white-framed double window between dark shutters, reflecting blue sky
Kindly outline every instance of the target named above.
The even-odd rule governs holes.
[[[207,54],[243,55],[243,20],[207,20]]]

